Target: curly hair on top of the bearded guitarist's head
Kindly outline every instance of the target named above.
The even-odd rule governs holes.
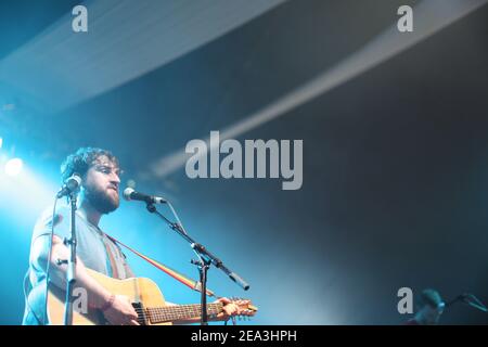
[[[84,177],[93,163],[101,156],[119,166],[118,159],[112,152],[97,147],[80,147],[74,154],[69,154],[61,165],[61,178],[64,182],[73,174]]]

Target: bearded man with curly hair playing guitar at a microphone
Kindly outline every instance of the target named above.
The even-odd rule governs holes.
[[[111,324],[138,325],[138,314],[129,299],[114,295],[93,280],[87,268],[116,279],[127,279],[133,273],[126,262],[120,248],[100,230],[99,222],[103,215],[110,214],[119,206],[120,169],[117,158],[108,151],[92,147],[79,149],[69,155],[62,165],[63,181],[74,174],[81,179],[78,197],[79,208],[76,211],[77,228],[77,265],[76,285],[84,287],[88,294],[88,305],[98,308]],[[44,324],[46,305],[46,269],[51,235],[54,223],[52,250],[50,259],[50,283],[60,288],[66,286],[66,264],[56,260],[68,259],[69,250],[63,240],[69,237],[70,210],[60,208],[54,220],[52,211],[37,221],[30,245],[28,279],[26,277],[26,308],[23,324]],[[223,306],[216,320],[227,320],[237,314],[239,308],[229,299],[219,299]],[[198,318],[175,323],[198,322]],[[49,322],[48,322],[49,323]]]

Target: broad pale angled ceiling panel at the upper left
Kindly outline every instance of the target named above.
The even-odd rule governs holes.
[[[282,2],[87,1],[88,33],[75,34],[67,13],[1,61],[0,80],[30,98],[24,102],[33,107],[59,112],[168,64]]]

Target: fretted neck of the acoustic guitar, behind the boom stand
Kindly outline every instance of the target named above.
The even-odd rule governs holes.
[[[207,314],[218,314],[222,311],[222,303],[207,304]],[[151,324],[174,322],[202,316],[202,305],[177,305],[146,308],[145,314]]]

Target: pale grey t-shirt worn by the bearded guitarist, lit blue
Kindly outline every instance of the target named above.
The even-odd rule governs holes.
[[[47,209],[36,222],[30,243],[30,257],[28,279],[24,283],[26,291],[26,307],[23,324],[42,324],[44,317],[46,298],[46,269],[39,267],[38,259],[34,257],[33,246],[41,247],[42,253],[48,254],[49,236],[51,233],[52,209]],[[61,240],[70,235],[70,209],[60,207],[54,218],[54,234]],[[85,217],[76,211],[76,253],[78,259],[89,269],[101,272],[111,278],[128,279],[133,273],[126,261],[126,256],[118,245],[110,240],[98,227],[91,224]],[[40,244],[39,244],[40,242]],[[27,277],[26,275],[26,277]]]

